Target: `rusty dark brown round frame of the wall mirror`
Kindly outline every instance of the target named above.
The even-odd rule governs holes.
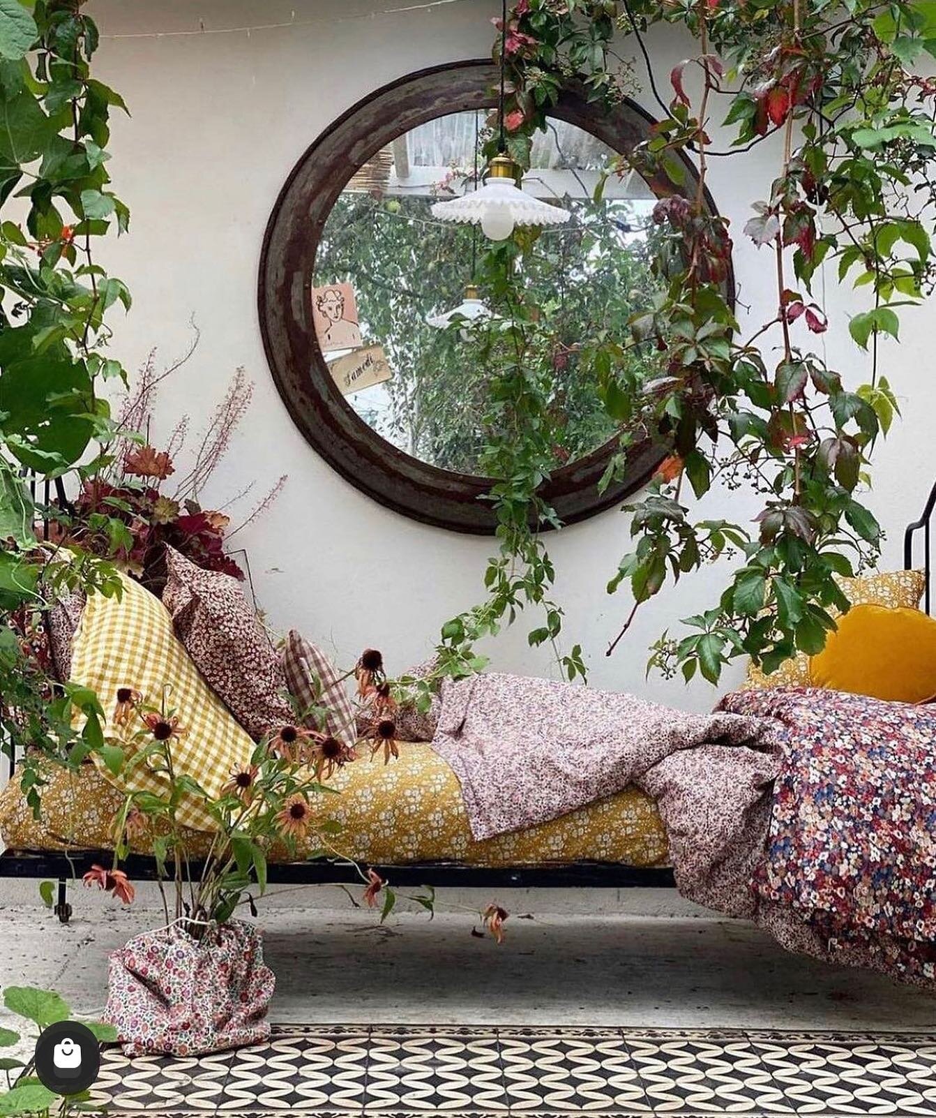
[[[318,348],[311,287],[325,221],[359,168],[419,124],[493,107],[496,82],[489,60],[420,70],[378,89],[335,121],[306,150],[277,198],[264,237],[258,285],[260,330],[274,380],[296,426],[318,454],[381,504],[427,524],[474,534],[495,531],[494,510],[484,500],[491,481],[420,462],[359,418],[336,388]],[[643,140],[653,123],[627,100],[596,114],[584,92],[574,87],[563,91],[550,115],[621,153]],[[681,192],[695,197],[696,171],[688,160],[685,164]],[[706,201],[714,211],[711,198],[706,196]],[[728,295],[734,295],[732,277]],[[544,484],[544,498],[565,523],[620,503],[647,482],[665,453],[649,443],[632,448],[624,479],[599,493],[599,480],[614,449],[612,440],[557,470]]]

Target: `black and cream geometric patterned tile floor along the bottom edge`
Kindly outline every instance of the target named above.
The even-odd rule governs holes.
[[[203,1059],[105,1052],[112,1118],[936,1116],[936,1032],[321,1026]]]

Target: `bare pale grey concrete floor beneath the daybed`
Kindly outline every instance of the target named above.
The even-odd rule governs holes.
[[[933,995],[789,955],[671,890],[507,891],[496,898],[512,912],[500,947],[471,936],[495,899],[478,891],[442,890],[433,920],[401,912],[383,927],[338,889],[277,892],[260,909],[277,1022],[936,1027]],[[80,888],[71,900],[63,927],[35,883],[0,881],[0,986],[51,987],[94,1015],[107,953],[162,911],[145,887],[130,909]]]

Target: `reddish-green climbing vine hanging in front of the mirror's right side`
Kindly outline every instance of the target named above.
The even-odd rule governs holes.
[[[698,45],[662,77],[646,41],[655,23],[684,25]],[[797,650],[820,651],[832,612],[848,608],[833,576],[873,562],[880,548],[862,490],[898,408],[879,342],[898,338],[902,309],[934,278],[936,82],[915,67],[936,56],[936,0],[519,0],[505,38],[510,154],[526,161],[565,84],[583,84],[598,112],[618,101],[630,80],[622,50],[643,68],[659,120],[611,173],[633,169],[657,186],[653,267],[665,293],[631,319],[628,337],[584,339],[582,351],[620,423],[619,462],[647,437],[665,457],[627,509],[633,548],[608,589],[627,584],[633,604],[608,652],[667,584],[729,558],[720,597],[686,619],[680,636],[665,635],[651,657],[666,673],[698,672],[714,683],[737,656],[770,672]],[[717,124],[727,142],[710,139]],[[767,141],[775,171],[757,189],[746,157]],[[691,197],[679,191],[686,157],[698,170]],[[737,160],[757,191],[741,235],[775,277],[766,321],[746,337],[725,286],[737,231],[705,206],[709,170],[724,159]],[[517,234],[489,262],[536,252],[535,239]],[[814,282],[821,268],[867,293],[867,309],[848,322],[869,354],[862,383],[819,352],[819,335],[844,325],[827,316]],[[443,629],[442,655],[453,663],[518,608],[548,601],[553,582],[539,529],[555,514],[538,495],[550,464],[522,371],[528,309],[515,273],[500,275],[517,307],[516,368],[491,383],[514,421],[509,435],[503,423],[488,434],[502,551],[488,567],[487,600]],[[649,383],[621,376],[633,344],[662,354],[663,373]],[[753,527],[694,519],[690,496],[716,482],[760,495]],[[561,627],[561,609],[550,604],[531,642],[555,639]],[[583,672],[577,646],[565,667],[570,678]]]

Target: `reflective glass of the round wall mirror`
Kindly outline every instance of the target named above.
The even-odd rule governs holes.
[[[485,383],[493,362],[509,360],[498,339],[510,310],[486,286],[484,234],[430,210],[474,189],[487,116],[440,116],[369,160],[328,215],[312,292],[319,347],[356,414],[424,463],[481,475],[485,430],[497,421]],[[627,320],[648,309],[660,286],[650,269],[656,198],[647,183],[614,174],[595,199],[615,154],[553,120],[536,135],[523,180],[524,190],[572,212],[514,262],[538,312],[537,367],[556,468],[615,434],[594,372],[580,359],[582,344],[601,330],[625,337]],[[656,375],[656,354],[644,348],[623,360],[637,379]]]

